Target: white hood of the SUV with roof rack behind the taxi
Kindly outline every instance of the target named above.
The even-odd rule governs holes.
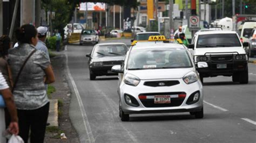
[[[196,48],[194,49],[194,55],[204,55],[205,53],[220,54],[245,54],[245,50],[242,47],[218,47],[218,48]],[[232,53],[234,52],[234,53]]]

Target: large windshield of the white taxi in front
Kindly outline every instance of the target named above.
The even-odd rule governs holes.
[[[127,69],[191,68],[192,63],[185,49],[153,48],[131,51]]]

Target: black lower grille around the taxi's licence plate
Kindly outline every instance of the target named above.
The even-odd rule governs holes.
[[[155,95],[179,95],[184,94],[184,92],[167,92],[167,93],[152,93],[152,94],[140,94],[144,96],[155,96]],[[163,108],[163,107],[174,107],[174,106],[180,106],[184,98],[171,98],[171,103],[164,103],[164,104],[155,104],[154,98],[152,99],[140,99],[140,102],[146,107],[146,108]]]

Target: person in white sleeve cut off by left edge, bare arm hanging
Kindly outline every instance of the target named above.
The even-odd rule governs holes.
[[[11,94],[8,84],[6,83],[4,76],[0,72],[0,103],[4,102],[6,108],[9,111],[9,115],[11,117],[11,121],[8,127],[8,131],[11,134],[17,135],[19,133],[19,126],[18,126],[18,117],[17,117],[17,110],[14,103],[14,97]],[[5,143],[6,138],[3,137],[2,133],[5,131],[5,113],[4,108],[0,106],[0,142]]]

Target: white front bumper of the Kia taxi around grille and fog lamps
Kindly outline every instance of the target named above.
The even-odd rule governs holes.
[[[166,80],[166,79],[165,79]],[[170,79],[173,80],[173,79]],[[166,112],[195,112],[201,111],[203,108],[203,87],[200,81],[186,84],[182,79],[179,79],[179,84],[172,85],[170,87],[149,87],[144,85],[145,81],[140,81],[137,87],[133,87],[131,85],[127,85],[125,83],[121,83],[119,87],[119,97],[120,97],[120,104],[122,105],[122,110],[126,114],[136,114],[136,113],[166,113]],[[199,100],[193,104],[186,104],[188,98],[191,94],[195,91],[200,92]],[[178,99],[177,97],[172,97],[172,93],[174,95],[176,93],[185,93],[186,97]],[[163,95],[163,94],[171,94],[171,103],[167,105],[166,103],[163,104],[154,104],[153,101],[148,100],[147,102],[151,102],[147,104],[143,99],[139,98],[139,95]],[[131,106],[125,102],[124,95],[128,94],[134,97],[137,102],[138,106]],[[179,103],[175,103],[175,102]],[[172,104],[173,103],[173,104]]]

